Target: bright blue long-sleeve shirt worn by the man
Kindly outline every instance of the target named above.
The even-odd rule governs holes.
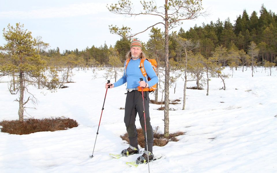
[[[113,83],[114,87],[120,86],[122,84],[125,84],[127,82],[127,88],[137,88],[139,86],[140,78],[143,78],[143,80],[146,82],[145,77],[141,73],[140,66],[141,59],[130,59],[127,68],[126,68],[126,74],[124,71],[124,74],[122,78],[120,78],[117,82]],[[126,64],[126,61],[124,62],[124,65]],[[151,80],[147,82],[147,84],[150,86],[153,86],[154,84],[158,83],[158,77],[151,65],[151,63],[147,60],[144,60],[143,63],[145,72],[147,74],[147,77],[150,77]]]

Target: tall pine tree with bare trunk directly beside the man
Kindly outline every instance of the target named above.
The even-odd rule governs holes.
[[[143,9],[136,13],[133,9],[133,5],[130,0],[119,0],[117,4],[108,7],[108,10],[114,14],[122,14],[124,16],[156,16],[160,17],[161,21],[154,22],[152,26],[146,26],[146,29],[139,32],[145,32],[148,29],[161,24],[164,27],[165,35],[165,95],[164,95],[164,136],[169,136],[169,29],[172,29],[176,25],[181,25],[182,21],[196,19],[199,16],[205,16],[206,12],[202,12],[202,0],[187,0],[187,1],[175,1],[175,0],[165,0],[161,5],[162,7],[157,7],[155,1],[140,1]],[[160,3],[160,2],[159,2]],[[138,35],[131,34],[131,28],[128,27],[113,27],[109,26],[111,33],[120,35],[122,37],[127,36],[134,37]]]

